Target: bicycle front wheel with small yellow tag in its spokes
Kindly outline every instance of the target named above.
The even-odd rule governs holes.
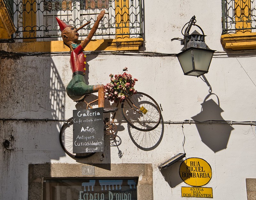
[[[161,111],[156,101],[140,92],[123,101],[122,114],[131,127],[141,131],[154,130],[161,121]]]

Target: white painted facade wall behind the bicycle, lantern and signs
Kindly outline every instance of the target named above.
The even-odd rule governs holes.
[[[256,61],[255,51],[244,51],[235,56],[227,54],[220,44],[221,2],[214,1],[145,1],[145,40],[142,50],[146,52],[178,53],[182,48],[174,37],[181,37],[180,30],[196,15],[206,37],[206,44],[215,53],[209,73],[205,75],[212,87],[207,100],[213,100],[223,110],[219,114],[227,121],[255,121]],[[153,14],[155,13],[155,14]],[[202,103],[209,94],[209,87],[201,78],[184,76],[176,57],[149,57],[130,55],[87,56],[90,84],[106,84],[110,73],[118,73],[124,67],[138,78],[137,91],[148,93],[163,108],[164,121],[192,120],[201,112]],[[22,56],[1,59],[0,118],[68,119],[76,103],[65,94],[71,78],[69,55]],[[217,97],[219,98],[219,102]],[[213,116],[216,110],[208,113]],[[121,113],[117,116],[122,120]],[[212,118],[205,119],[211,120]],[[213,119],[212,119],[213,120]],[[28,198],[28,164],[30,163],[76,163],[68,157],[59,144],[62,122],[1,121],[1,140],[10,139],[14,150],[0,148],[0,199]],[[179,165],[159,171],[158,166],[179,152],[187,158],[205,159],[212,167],[212,179],[204,187],[213,189],[214,199],[246,199],[245,178],[256,178],[255,126],[229,124],[205,124],[209,132],[218,137],[212,145],[220,146],[214,152],[201,141],[195,124],[164,124],[161,143],[151,151],[136,147],[129,134],[127,123],[118,126],[117,135],[122,139],[118,148],[109,146],[105,139],[105,158],[100,154],[85,159],[84,163],[152,163],[154,199],[187,199],[181,197],[181,186],[189,187],[179,178]],[[162,127],[160,126],[159,130]],[[233,130],[223,147],[221,130]],[[131,131],[135,131],[131,129]],[[207,133],[208,133],[207,131]],[[184,135],[183,135],[184,132]],[[227,131],[228,132],[228,131]],[[14,137],[11,139],[11,137]],[[214,138],[214,137],[213,137]],[[220,139],[219,139],[220,138]],[[202,199],[202,198],[201,198]]]

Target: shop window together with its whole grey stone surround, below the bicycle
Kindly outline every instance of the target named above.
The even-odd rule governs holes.
[[[153,199],[152,164],[30,164],[28,200],[34,199]]]

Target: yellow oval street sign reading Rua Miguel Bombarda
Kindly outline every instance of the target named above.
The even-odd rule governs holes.
[[[188,158],[180,164],[180,178],[191,186],[203,186],[212,178],[211,166],[201,158]]]

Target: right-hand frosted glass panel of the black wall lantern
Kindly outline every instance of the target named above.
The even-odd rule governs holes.
[[[213,52],[205,49],[193,49],[192,51],[194,52],[195,70],[208,71]]]

